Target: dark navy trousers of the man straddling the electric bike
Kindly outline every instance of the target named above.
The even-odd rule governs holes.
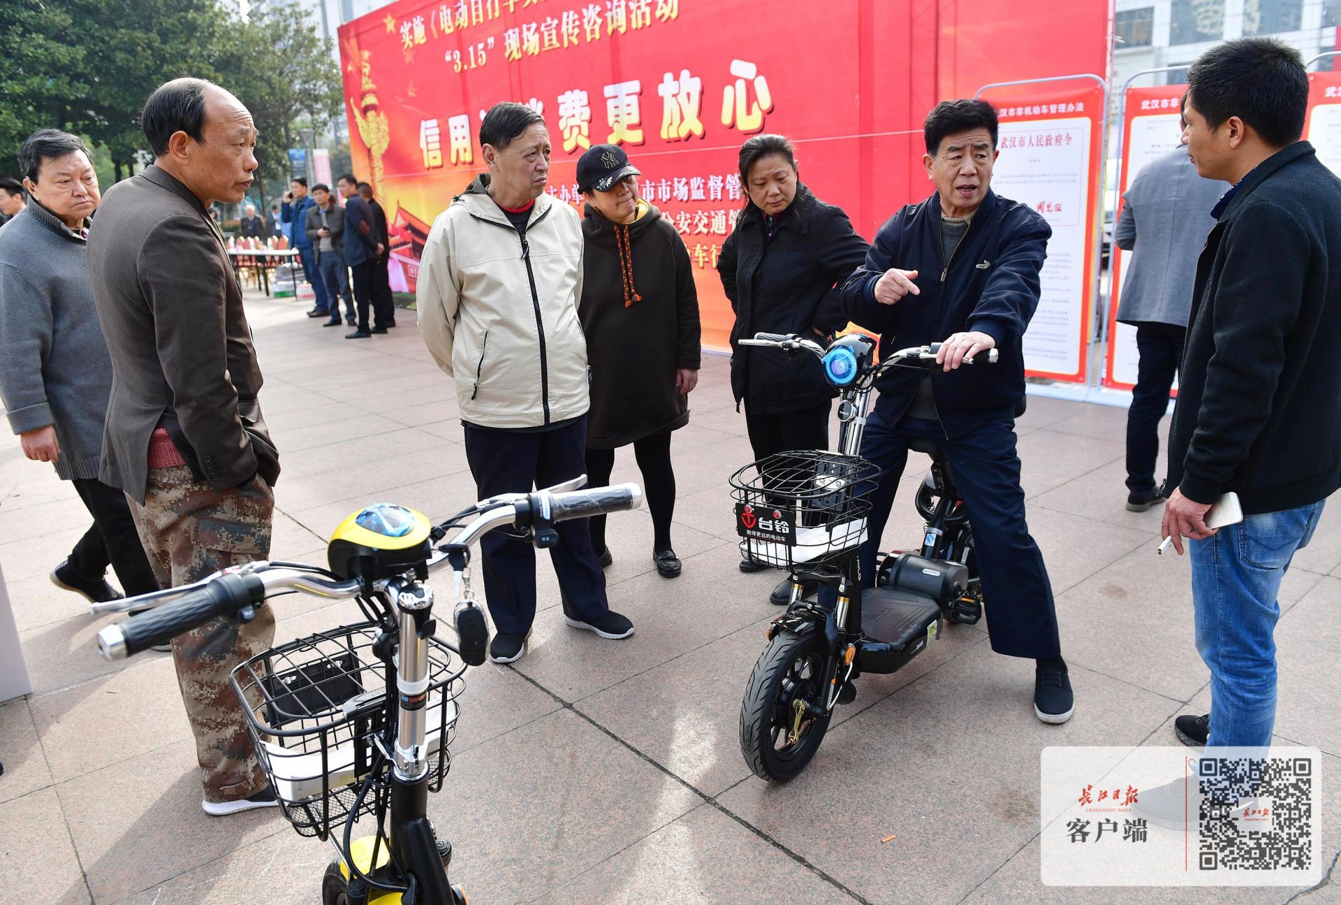
[[[884,396],[876,400],[861,439],[861,455],[880,469],[880,486],[870,494],[869,540],[861,545],[862,585],[874,584],[876,551],[908,463],[908,443],[915,436],[935,440],[974,526],[974,556],[992,650],[1034,659],[1059,657],[1053,585],[1025,521],[1014,420],[1008,415],[987,418],[972,431],[947,440],[940,422],[901,418],[900,407],[884,401]],[[915,540],[908,538],[909,545]]]

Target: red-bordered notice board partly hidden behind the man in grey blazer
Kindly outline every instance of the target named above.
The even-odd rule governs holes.
[[[1185,85],[1157,85],[1155,87],[1126,89],[1122,111],[1122,175],[1118,185],[1117,209],[1113,228],[1122,215],[1121,196],[1145,164],[1173,150],[1181,142],[1181,98]],[[1122,298],[1122,277],[1126,274],[1128,255],[1116,244],[1110,251],[1113,283],[1108,306],[1108,363],[1104,385],[1130,389],[1136,385],[1136,328],[1117,322],[1117,302]]]

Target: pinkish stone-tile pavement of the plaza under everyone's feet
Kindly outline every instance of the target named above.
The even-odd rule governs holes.
[[[453,393],[413,313],[392,336],[355,344],[296,302],[252,298],[248,310],[283,457],[276,557],[320,561],[323,538],[369,501],[434,516],[475,498]],[[611,517],[610,603],[637,634],[599,640],[565,627],[551,604],[515,669],[469,674],[453,768],[430,808],[456,843],[453,877],[471,902],[1290,900],[1299,890],[1039,884],[1039,749],[1172,744],[1172,718],[1208,702],[1187,564],[1153,555],[1157,512],[1122,508],[1124,418],[1033,399],[1019,427],[1075,717],[1039,724],[1031,665],[992,654],[980,627],[953,627],[904,671],[864,679],[810,769],[770,787],[742,760],[736,718],[776,614],[764,600],[776,576],[735,568],[725,481],[751,457],[725,359],[708,357],[675,439],[684,575],[653,571],[646,512]],[[924,459],[913,459],[920,474]],[[616,479],[637,477],[621,452]],[[0,444],[0,563],[35,683],[0,705],[0,889],[98,905],[318,901],[327,847],[274,812],[201,812],[170,659],[102,662],[93,635],[106,620],[47,581],[86,524],[47,466]],[[917,529],[901,493],[886,542],[912,545]],[[540,592],[557,603],[547,567]],[[1328,513],[1295,559],[1281,604],[1278,740],[1326,752],[1324,849],[1334,863],[1341,516]],[[347,611],[284,598],[276,636]],[[1299,901],[1341,902],[1337,884],[1341,874]]]

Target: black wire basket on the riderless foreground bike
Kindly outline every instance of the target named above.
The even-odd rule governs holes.
[[[341,626],[233,669],[256,757],[299,835],[326,839],[351,815],[357,820],[378,806],[380,795],[359,800],[358,787],[392,759],[394,744],[396,670],[373,653],[380,634],[373,622]],[[451,768],[465,665],[437,638],[428,639],[428,650],[425,752],[436,792]]]

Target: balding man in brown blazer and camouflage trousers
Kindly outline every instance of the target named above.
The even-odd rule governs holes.
[[[111,350],[103,483],[131,501],[158,581],[176,587],[270,555],[279,454],[261,419],[261,376],[241,290],[212,203],[252,184],[256,129],[202,79],[158,87],[141,114],[154,165],[111,187],[89,234],[89,275]],[[275,804],[228,683],[275,635],[268,607],[173,639],[204,773],[207,814]]]

